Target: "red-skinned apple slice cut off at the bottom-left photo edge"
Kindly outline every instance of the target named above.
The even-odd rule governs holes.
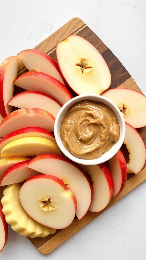
[[[0,201],[0,252],[3,250],[8,239],[8,223],[5,220],[5,215],[2,209],[3,205]]]

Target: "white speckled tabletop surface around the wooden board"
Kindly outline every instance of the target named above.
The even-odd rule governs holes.
[[[81,18],[111,49],[146,95],[145,0],[15,0],[0,4],[0,63],[33,48],[73,17]],[[146,182],[49,255],[9,229],[0,260],[145,260]]]

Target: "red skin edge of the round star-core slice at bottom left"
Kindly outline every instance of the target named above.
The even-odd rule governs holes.
[[[61,179],[59,179],[58,177],[52,176],[52,175],[39,174],[39,175],[37,175],[37,176],[34,176],[34,177],[29,178],[28,180],[25,181],[25,183],[26,183],[27,181],[34,180],[34,179],[49,179],[49,180],[55,181],[56,183],[58,183],[59,185],[61,185],[64,190],[70,191],[70,189],[63,183],[63,181],[62,181]],[[75,197],[74,193],[72,193],[71,198],[72,198],[72,200],[74,201],[74,204],[75,204],[75,212],[76,212],[76,211],[77,211],[77,200],[76,200],[76,197]]]

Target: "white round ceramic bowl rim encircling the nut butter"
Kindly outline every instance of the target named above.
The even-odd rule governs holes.
[[[120,136],[119,136],[118,141],[114,143],[114,145],[111,147],[111,149],[108,152],[102,154],[102,156],[97,159],[87,160],[87,159],[77,158],[72,153],[68,152],[67,149],[62,144],[62,139],[61,139],[60,131],[59,131],[62,119],[64,118],[65,114],[68,112],[69,108],[72,105],[74,105],[78,101],[82,101],[82,100],[91,100],[91,101],[95,101],[95,102],[102,102],[105,105],[109,106],[115,112],[117,119],[118,119],[118,123],[120,125]],[[100,163],[105,162],[105,161],[109,160],[110,158],[112,158],[118,152],[118,150],[121,148],[123,141],[124,141],[124,137],[125,137],[125,122],[124,122],[124,118],[120,112],[120,109],[118,109],[118,107],[113,102],[111,102],[109,99],[107,99],[103,96],[100,96],[100,95],[89,95],[89,94],[79,95],[79,96],[76,96],[76,97],[72,98],[71,100],[69,100],[59,110],[56,120],[55,120],[54,135],[55,135],[55,139],[56,139],[58,147],[60,148],[62,153],[65,156],[67,156],[70,160],[72,160],[78,164],[83,164],[83,165],[96,165],[96,164],[100,164]]]

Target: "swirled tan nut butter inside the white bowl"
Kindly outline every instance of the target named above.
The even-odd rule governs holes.
[[[95,159],[107,152],[120,134],[114,111],[102,102],[81,101],[66,113],[60,127],[65,148],[81,159]]]

